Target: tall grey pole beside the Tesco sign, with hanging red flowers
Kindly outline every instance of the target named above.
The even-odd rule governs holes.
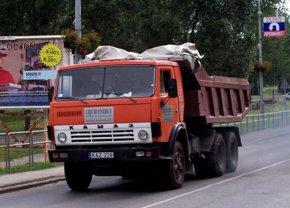
[[[258,17],[259,17],[259,64],[262,64],[262,35],[261,35],[261,6],[258,1]],[[263,72],[260,68],[260,114],[261,114],[261,128],[264,128],[264,101],[263,101]]]

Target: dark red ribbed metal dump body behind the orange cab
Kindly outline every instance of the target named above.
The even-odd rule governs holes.
[[[203,67],[193,74],[182,70],[184,119],[196,123],[239,122],[251,110],[246,79],[209,76]]]

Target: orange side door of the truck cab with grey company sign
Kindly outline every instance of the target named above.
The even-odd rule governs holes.
[[[173,70],[170,69],[160,69],[160,100],[168,100],[167,91],[167,80],[173,77]],[[161,142],[167,142],[169,140],[170,132],[173,125],[179,121],[179,109],[178,109],[178,99],[170,98],[165,105],[160,104],[160,118],[161,118]]]

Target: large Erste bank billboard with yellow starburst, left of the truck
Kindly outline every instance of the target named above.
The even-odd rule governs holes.
[[[48,87],[69,65],[63,39],[0,37],[0,109],[48,106]]]

